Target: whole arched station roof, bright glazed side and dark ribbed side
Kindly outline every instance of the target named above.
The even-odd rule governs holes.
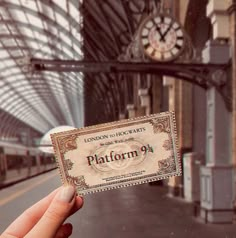
[[[1,124],[12,123],[15,128],[23,123],[44,134],[60,125],[83,126],[85,113],[100,121],[117,119],[125,104],[132,102],[132,76],[119,75],[117,80],[112,73],[35,72],[29,67],[30,59],[130,57],[140,23],[160,2],[1,0]]]

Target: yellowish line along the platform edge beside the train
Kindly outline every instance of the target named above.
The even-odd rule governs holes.
[[[10,196],[8,196],[7,198],[4,198],[4,199],[0,200],[0,207],[5,205],[6,203],[16,199],[17,197],[21,196],[22,194],[28,192],[29,190],[37,187],[38,185],[46,182],[47,180],[51,179],[52,177],[55,177],[56,175],[57,175],[57,173],[54,172],[52,175],[50,175],[50,176],[48,176],[46,178],[43,178],[43,179],[39,180],[38,182],[34,182],[32,185],[30,185],[30,186],[28,186],[28,187],[26,187],[24,189],[21,189],[20,191],[12,194]]]

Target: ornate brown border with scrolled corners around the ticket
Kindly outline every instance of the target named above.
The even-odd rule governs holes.
[[[168,119],[168,120],[166,120]],[[173,122],[173,123],[171,123]],[[153,125],[154,133],[158,132],[167,132],[169,135],[169,140],[167,140],[163,147],[166,150],[172,150],[172,154],[167,159],[159,161],[163,163],[163,170],[159,170],[157,173],[149,174],[141,177],[135,177],[130,179],[123,179],[119,181],[113,181],[106,183],[106,185],[96,185],[88,186],[85,182],[84,176],[71,176],[68,171],[72,169],[73,162],[69,159],[64,158],[64,154],[67,151],[77,148],[76,139],[79,135],[96,133],[99,131],[110,130],[113,128],[122,128],[128,125],[137,125],[137,123],[151,123]],[[79,135],[78,135],[79,134]],[[58,132],[51,134],[51,141],[56,157],[57,167],[59,169],[61,181],[63,184],[74,184],[77,188],[79,195],[86,195],[95,192],[106,191],[115,188],[122,188],[127,186],[133,186],[148,182],[153,182],[157,180],[167,179],[173,176],[181,176],[181,162],[179,147],[177,142],[177,129],[176,129],[176,120],[175,113],[171,112],[162,112],[158,114],[151,114],[147,116],[135,117],[130,119],[124,119],[120,121],[114,121],[109,123],[103,123],[99,125],[87,126],[83,128],[78,128],[65,132]],[[173,143],[169,143],[169,142]],[[58,148],[58,150],[56,150]],[[169,159],[169,161],[167,161]],[[165,164],[169,163],[170,165],[174,164],[175,171],[165,170]],[[122,183],[122,184],[121,184]]]

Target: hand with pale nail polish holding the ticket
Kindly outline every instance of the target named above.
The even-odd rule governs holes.
[[[75,188],[63,186],[27,209],[0,238],[67,238],[72,225],[63,222],[82,205],[83,199],[75,195]]]

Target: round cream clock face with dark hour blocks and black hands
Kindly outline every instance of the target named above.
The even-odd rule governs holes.
[[[176,59],[185,44],[180,24],[165,15],[148,17],[142,25],[140,39],[145,54],[163,62]]]

